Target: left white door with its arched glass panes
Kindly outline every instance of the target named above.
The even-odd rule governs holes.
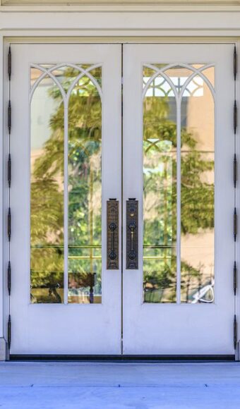
[[[109,198],[121,206],[121,46],[11,54],[11,354],[119,354],[106,217]]]

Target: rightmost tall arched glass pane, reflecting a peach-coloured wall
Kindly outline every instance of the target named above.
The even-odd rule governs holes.
[[[212,75],[213,68],[208,74]],[[194,90],[194,86],[198,87]],[[189,91],[191,89],[191,92]],[[181,112],[181,302],[214,301],[214,100],[198,75]]]

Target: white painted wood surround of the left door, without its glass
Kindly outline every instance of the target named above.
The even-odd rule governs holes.
[[[106,201],[121,200],[121,46],[13,44],[12,343],[15,354],[119,354],[121,265],[106,270]],[[29,304],[30,63],[102,64],[102,305]],[[120,212],[121,213],[121,212]],[[121,252],[121,248],[120,248]]]

